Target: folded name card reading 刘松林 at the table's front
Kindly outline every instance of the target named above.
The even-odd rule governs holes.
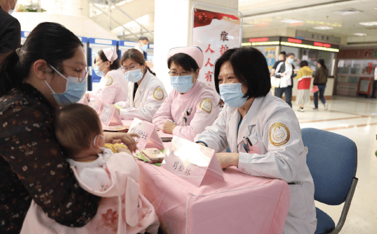
[[[161,167],[197,187],[200,187],[207,174],[225,181],[213,149],[177,136],[173,137]]]

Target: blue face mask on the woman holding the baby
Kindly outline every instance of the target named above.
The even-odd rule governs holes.
[[[87,79],[83,78],[81,82],[79,82],[78,77],[71,77],[68,76],[66,78],[60,72],[58,72],[54,67],[50,65],[50,67],[61,77],[67,80],[65,92],[63,93],[55,93],[54,90],[50,87],[50,85],[44,81],[47,86],[52,91],[52,96],[55,98],[56,103],[59,106],[66,106],[72,103],[77,103],[80,99],[84,96],[85,91],[87,90]]]

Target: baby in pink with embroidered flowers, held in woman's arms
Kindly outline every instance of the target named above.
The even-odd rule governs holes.
[[[134,157],[121,144],[106,148],[102,124],[93,108],[71,104],[60,109],[55,132],[80,186],[103,198],[96,216],[83,227],[57,223],[32,201],[21,233],[158,232],[155,209],[139,194],[140,171]]]

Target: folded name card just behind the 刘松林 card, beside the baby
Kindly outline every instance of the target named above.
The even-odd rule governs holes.
[[[134,118],[128,133],[136,133],[139,135],[137,146],[141,148],[158,148],[159,150],[165,148],[157,133],[156,127],[149,122]],[[137,141],[137,139],[135,140]]]

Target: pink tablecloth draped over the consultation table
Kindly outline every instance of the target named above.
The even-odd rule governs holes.
[[[155,207],[165,234],[283,231],[290,199],[284,181],[230,167],[224,170],[225,182],[207,174],[198,188],[162,167],[137,163],[140,191]]]

